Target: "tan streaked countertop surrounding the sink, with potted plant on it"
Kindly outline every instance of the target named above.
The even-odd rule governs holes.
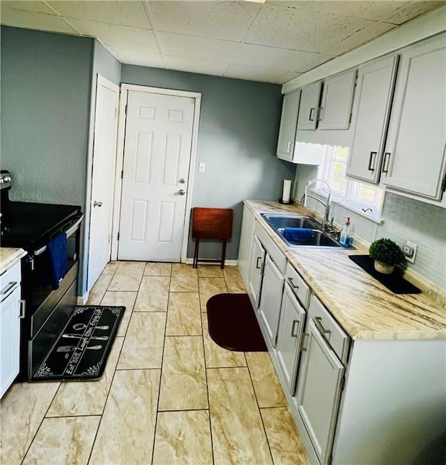
[[[364,246],[354,243],[357,250],[291,249],[260,216],[308,215],[308,209],[263,200],[245,200],[245,205],[352,339],[446,339],[446,300],[440,288],[405,274],[422,293],[394,294],[348,258],[367,254]]]

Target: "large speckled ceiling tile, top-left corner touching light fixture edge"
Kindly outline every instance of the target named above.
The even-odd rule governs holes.
[[[371,24],[368,20],[340,17],[334,13],[314,15],[310,10],[264,5],[244,41],[306,52],[324,52]]]

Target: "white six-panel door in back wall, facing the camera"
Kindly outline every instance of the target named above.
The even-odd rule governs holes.
[[[128,92],[118,259],[179,262],[195,99]]]

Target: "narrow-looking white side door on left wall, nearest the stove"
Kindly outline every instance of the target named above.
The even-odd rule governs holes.
[[[88,288],[110,260],[119,87],[98,75],[91,180]]]

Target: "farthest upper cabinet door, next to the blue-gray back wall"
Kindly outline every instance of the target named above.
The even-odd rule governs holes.
[[[282,117],[280,119],[279,140],[277,141],[277,158],[293,161],[295,128],[298,123],[300,89],[284,95]]]

